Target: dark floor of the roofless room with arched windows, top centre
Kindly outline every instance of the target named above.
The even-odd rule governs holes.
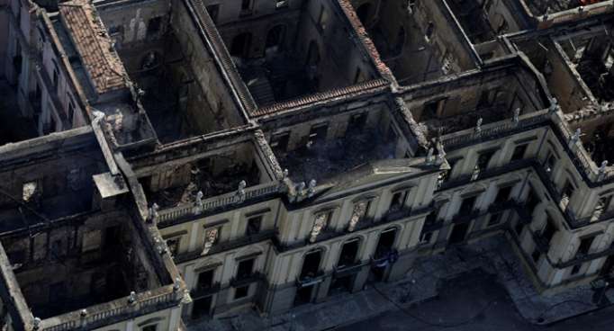
[[[259,106],[279,103],[317,92],[309,67],[284,52],[266,58],[235,59],[241,78]]]

